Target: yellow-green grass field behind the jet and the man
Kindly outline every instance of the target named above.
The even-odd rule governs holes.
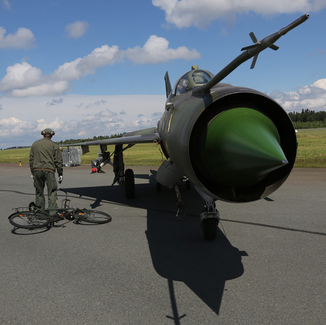
[[[297,155],[294,167],[326,168],[326,129],[301,129],[297,132]],[[97,146],[90,146],[90,152],[82,156],[82,164],[90,164],[97,158]],[[114,146],[108,146],[113,152]],[[30,149],[2,150],[0,162],[28,164]],[[159,166],[162,156],[159,146],[138,144],[124,152],[126,166]]]

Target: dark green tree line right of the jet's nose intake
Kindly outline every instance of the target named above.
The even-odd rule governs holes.
[[[296,129],[307,129],[315,127],[326,127],[326,112],[310,111],[308,109],[299,112],[290,112],[290,119]]]

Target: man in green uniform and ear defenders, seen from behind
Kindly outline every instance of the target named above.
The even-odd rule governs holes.
[[[58,184],[55,177],[57,169],[59,183],[63,179],[62,154],[59,146],[51,141],[55,135],[51,129],[46,128],[41,132],[43,139],[35,141],[30,151],[30,168],[34,187],[36,191],[35,204],[45,209],[45,198],[43,195],[44,184],[47,185],[49,214],[57,217],[57,189]]]

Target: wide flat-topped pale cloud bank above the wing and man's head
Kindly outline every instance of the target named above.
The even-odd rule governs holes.
[[[53,106],[48,104],[53,97],[3,96],[0,148],[31,145],[46,127],[56,132],[53,140],[60,141],[156,126],[165,101],[165,95],[62,95],[54,101],[60,105]],[[139,114],[143,117],[138,118]]]

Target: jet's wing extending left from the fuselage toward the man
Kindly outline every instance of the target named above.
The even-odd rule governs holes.
[[[155,140],[159,141],[159,134],[157,132],[156,127],[150,127],[147,129],[124,133],[123,136],[120,138],[80,142],[80,143],[75,143],[75,144],[65,145],[65,146],[67,147],[80,146],[82,147],[83,154],[85,154],[89,152],[89,146],[119,145],[119,144],[134,145],[138,143],[152,143]]]

